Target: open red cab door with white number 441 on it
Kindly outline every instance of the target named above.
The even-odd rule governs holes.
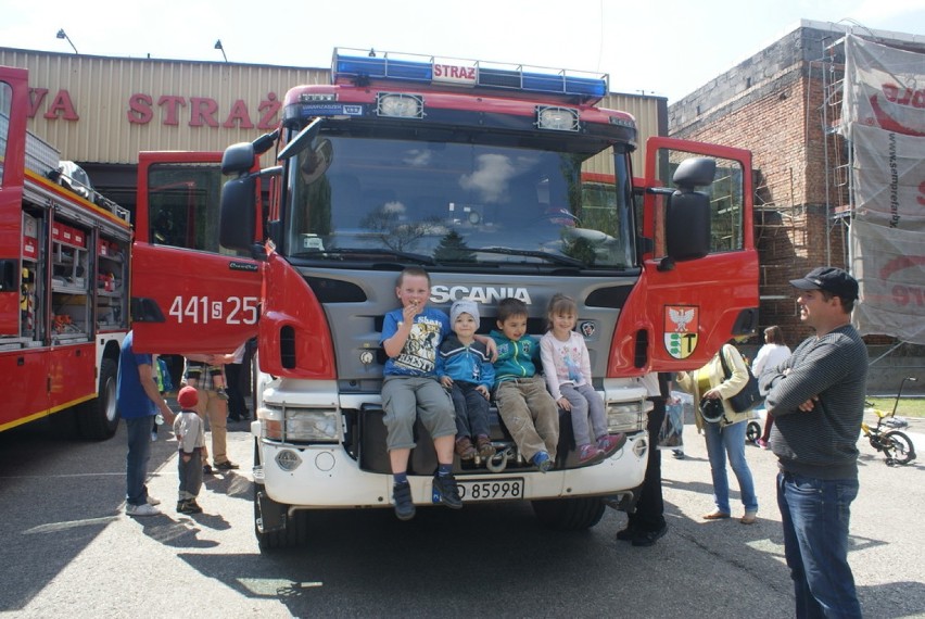
[[[139,154],[137,352],[230,353],[257,333],[263,263],[218,243],[220,162],[220,152]]]

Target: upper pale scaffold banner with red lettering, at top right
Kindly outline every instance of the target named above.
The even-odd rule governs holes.
[[[852,125],[925,136],[925,54],[845,37],[845,99],[839,132]]]

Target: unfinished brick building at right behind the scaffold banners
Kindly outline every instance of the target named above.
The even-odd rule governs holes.
[[[791,343],[806,331],[789,280],[815,266],[848,265],[850,153],[835,132],[844,77],[840,41],[847,31],[842,25],[802,21],[669,108],[672,137],[752,151],[760,326],[782,326]],[[925,50],[922,35],[866,28],[853,34]]]

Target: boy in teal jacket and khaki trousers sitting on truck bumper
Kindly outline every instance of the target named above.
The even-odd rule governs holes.
[[[536,376],[540,343],[527,334],[527,304],[507,298],[498,303],[498,330],[491,337],[498,348],[495,366],[495,402],[517,449],[541,472],[556,462],[559,410]]]

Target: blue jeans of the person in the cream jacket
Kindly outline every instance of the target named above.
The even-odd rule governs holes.
[[[751,470],[745,459],[745,429],[747,424],[740,421],[720,428],[719,424],[705,424],[704,433],[707,438],[707,455],[710,458],[710,469],[713,473],[713,501],[717,509],[723,514],[732,514],[730,509],[730,480],[726,476],[726,456],[742,494],[742,504],[746,511],[758,511],[758,497],[755,495],[755,482]]]

